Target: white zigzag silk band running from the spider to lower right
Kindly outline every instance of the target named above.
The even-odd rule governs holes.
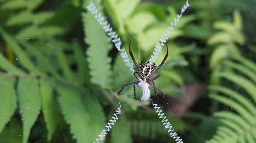
[[[169,136],[172,137],[177,143],[183,143],[182,138],[174,131],[172,124],[168,121],[168,119],[164,116],[164,113],[162,110],[160,110],[160,107],[157,103],[154,104],[152,101],[152,104],[154,108],[156,109],[157,115],[160,120],[162,120],[162,124],[165,127],[165,129],[168,130]]]

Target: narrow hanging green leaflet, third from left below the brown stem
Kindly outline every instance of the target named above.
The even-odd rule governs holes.
[[[57,128],[57,111],[56,99],[53,95],[52,81],[47,81],[44,78],[40,79],[40,93],[42,98],[42,113],[48,130],[47,139],[50,141],[54,131]]]

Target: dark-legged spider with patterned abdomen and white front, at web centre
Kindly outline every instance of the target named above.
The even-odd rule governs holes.
[[[132,57],[132,60],[134,62],[134,65],[136,66],[137,71],[133,73],[133,75],[135,76],[136,79],[138,79],[138,81],[134,81],[134,82],[130,82],[127,84],[124,84],[123,87],[121,88],[121,90],[117,93],[118,95],[122,95],[120,94],[123,89],[127,86],[127,85],[131,85],[133,84],[133,93],[134,93],[134,98],[139,100],[139,101],[147,101],[147,100],[152,100],[154,98],[156,98],[158,96],[157,94],[157,90],[161,93],[162,98],[164,99],[164,102],[169,106],[169,102],[167,102],[165,96],[163,95],[163,91],[160,90],[154,83],[154,80],[156,80],[157,78],[160,77],[160,75],[152,77],[164,64],[165,60],[168,57],[168,46],[166,44],[166,54],[164,56],[164,59],[162,61],[162,63],[157,67],[155,63],[150,63],[150,61],[141,61],[139,63],[139,65],[137,64],[137,62],[134,59],[133,56],[133,52],[131,50],[131,41],[129,44],[129,53]],[[136,76],[136,73],[138,74],[139,77]],[[152,77],[152,78],[151,78]],[[136,91],[135,91],[135,84],[137,84],[141,90],[142,90],[142,97],[141,99],[138,99],[136,97]],[[155,92],[155,97],[151,98],[150,97],[150,89],[148,89],[148,87],[152,85],[154,88],[154,92]],[[170,106],[169,106],[170,107]],[[170,108],[172,109],[172,108]],[[174,112],[174,110],[172,109],[172,111]],[[175,112],[174,112],[175,113]]]

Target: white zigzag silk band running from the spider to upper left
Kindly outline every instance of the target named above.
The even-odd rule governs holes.
[[[108,23],[108,21],[105,20],[105,18],[101,15],[101,13],[98,11],[98,9],[95,7],[93,2],[91,1],[90,5],[87,7],[87,9],[92,13],[92,15],[97,19],[99,24],[103,27],[106,34],[108,34],[111,37],[112,42],[115,44],[115,47],[120,52],[123,61],[126,66],[130,68],[132,73],[134,73],[133,69],[133,63],[130,61],[126,51],[124,48],[120,48],[122,46],[122,42],[120,37],[118,37],[117,33],[113,30],[112,26]]]

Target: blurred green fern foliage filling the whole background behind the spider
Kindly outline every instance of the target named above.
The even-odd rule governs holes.
[[[0,1],[0,142],[93,142],[118,101],[122,115],[105,142],[174,142],[150,102],[132,98],[132,86],[117,96],[135,78],[89,3]],[[94,3],[140,62],[185,0]],[[189,4],[156,80],[177,114],[157,102],[184,142],[255,142],[256,2]]]

